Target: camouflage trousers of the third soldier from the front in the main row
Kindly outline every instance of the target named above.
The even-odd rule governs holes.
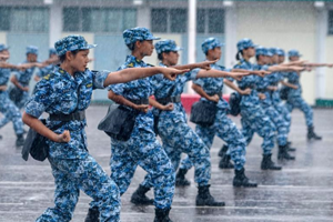
[[[159,135],[174,171],[180,164],[182,152],[186,153],[195,168],[194,181],[199,185],[208,185],[211,179],[210,151],[189,124],[182,120],[174,121],[172,118],[160,119]],[[141,185],[150,188],[151,176],[147,175]]]

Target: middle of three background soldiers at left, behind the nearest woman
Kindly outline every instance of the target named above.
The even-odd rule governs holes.
[[[38,57],[38,48],[34,46],[27,47],[27,60],[23,63],[37,62]],[[29,82],[34,72],[34,67],[30,69],[26,69],[24,71],[16,72],[12,77],[11,82],[13,83],[13,88],[18,88],[18,90],[22,91],[19,98],[14,99],[14,104],[22,109],[26,102],[29,100]],[[9,89],[11,90],[11,89]]]

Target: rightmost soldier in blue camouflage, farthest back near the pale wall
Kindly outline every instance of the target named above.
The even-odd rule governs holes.
[[[290,50],[287,52],[287,56],[289,56],[290,61],[297,61],[301,57],[301,54],[297,50]],[[307,140],[311,140],[311,139],[321,140],[322,137],[319,137],[314,132],[313,111],[312,111],[311,107],[302,98],[302,87],[300,83],[300,74],[301,74],[300,72],[291,72],[286,75],[287,82],[295,85],[296,89],[290,88],[285,105],[290,112],[292,112],[292,110],[294,108],[297,108],[304,113],[306,127],[307,127]]]

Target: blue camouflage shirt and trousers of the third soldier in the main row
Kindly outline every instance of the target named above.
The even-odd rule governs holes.
[[[161,67],[165,67],[160,63]],[[199,69],[178,75],[174,81],[163,78],[162,74],[152,77],[154,95],[157,99],[176,97],[183,92],[185,83],[195,80]],[[194,181],[199,185],[208,185],[211,178],[211,159],[209,149],[200,137],[189,127],[186,113],[181,102],[173,103],[171,111],[153,109],[159,115],[158,131],[163,143],[163,149],[173,164],[174,171],[179,168],[181,154],[186,153],[195,167]],[[148,174],[141,185],[151,188],[152,178]]]

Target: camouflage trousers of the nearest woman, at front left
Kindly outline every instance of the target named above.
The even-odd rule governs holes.
[[[91,196],[100,211],[101,222],[120,221],[120,194],[117,184],[87,153],[82,159],[49,157],[56,181],[54,208],[49,208],[37,222],[67,222],[72,219],[80,190]]]

